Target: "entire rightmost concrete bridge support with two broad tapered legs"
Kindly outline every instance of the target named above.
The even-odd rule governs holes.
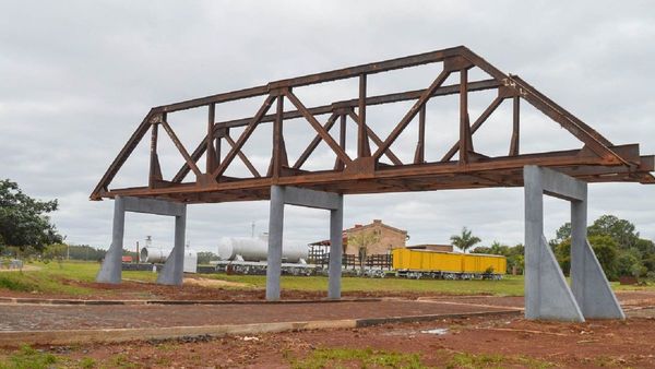
[[[558,171],[525,166],[525,318],[583,322],[624,319],[586,239],[587,184]],[[571,281],[544,237],[544,193],[571,202]]]

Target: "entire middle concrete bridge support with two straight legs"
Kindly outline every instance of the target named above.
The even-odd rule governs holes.
[[[269,255],[266,258],[266,300],[279,300],[282,272],[282,240],[284,230],[284,205],[296,205],[330,211],[330,270],[327,297],[341,298],[343,195],[296,187],[271,187],[269,217]]]

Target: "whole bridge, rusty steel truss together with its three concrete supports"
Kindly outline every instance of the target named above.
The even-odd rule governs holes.
[[[378,73],[429,63],[440,63],[442,71],[434,79],[426,81],[425,90],[383,95],[368,93],[367,81]],[[471,80],[472,69],[484,72],[487,78]],[[457,76],[456,83],[444,85],[451,75]],[[356,79],[358,85],[350,99],[307,106],[296,92],[348,79]],[[479,91],[493,91],[497,95],[483,114],[472,120],[468,97]],[[441,131],[427,131],[426,104],[448,95],[457,96],[458,139],[443,157],[430,159],[426,155],[426,142]],[[222,104],[248,98],[261,99],[257,111],[245,114],[240,119],[216,121],[216,111],[222,109]],[[521,122],[521,100],[568,131],[577,139],[580,146],[556,152],[522,151],[521,130],[529,127],[523,127]],[[367,109],[398,102],[412,102],[412,106],[389,134],[380,135],[376,122],[367,120]],[[474,133],[504,102],[512,104],[513,111],[508,154],[489,156],[476,151]],[[291,108],[285,107],[285,103]],[[269,114],[272,106],[275,106],[274,112]],[[198,146],[189,150],[178,139],[169,117],[172,112],[194,108],[206,109],[206,123],[203,124],[206,134]],[[319,117],[325,118],[320,121]],[[296,126],[286,126],[290,120]],[[253,132],[269,123],[272,123],[269,169],[260,172],[242,148],[252,140]],[[298,158],[290,162],[286,150],[289,141],[285,140],[285,132],[288,134],[297,124],[309,124],[315,131],[315,136]],[[350,153],[346,150],[348,124],[355,124],[357,132],[353,138],[356,151]],[[398,138],[410,124],[417,126],[417,144],[413,148],[413,159],[402,160],[394,150],[397,144],[403,144]],[[182,162],[171,178],[164,178],[159,166],[159,128],[175,143]],[[330,131],[334,132],[336,128],[338,135],[333,136]],[[233,139],[235,131],[240,133]],[[133,188],[110,188],[123,163],[148,132],[151,165],[147,183]],[[321,143],[334,153],[335,162],[327,168],[307,167],[308,158]],[[224,145],[227,145],[225,154],[222,153]],[[203,155],[205,163],[201,164]],[[237,158],[248,167],[249,176],[226,174]],[[332,246],[329,297],[340,298],[343,195],[525,186],[526,316],[577,321],[585,317],[622,318],[622,311],[586,241],[586,183],[654,183],[653,170],[654,157],[641,156],[638,144],[615,145],[523,79],[501,72],[463,46],[275,81],[151,109],[91,194],[92,200],[115,200],[114,239],[97,281],[120,281],[120,251],[127,211],[175,216],[176,242],[158,282],[181,284],[187,204],[270,200],[266,298],[279,299],[286,204],[330,211]],[[573,288],[567,284],[552,252],[543,241],[543,193],[572,202]]]

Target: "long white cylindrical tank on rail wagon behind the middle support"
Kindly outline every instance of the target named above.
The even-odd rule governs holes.
[[[218,242],[218,258],[221,260],[235,260],[240,255],[246,261],[264,261],[269,252],[269,241],[265,238],[251,237],[224,237]],[[284,245],[282,260],[287,263],[297,263],[300,259],[307,260],[307,246]]]

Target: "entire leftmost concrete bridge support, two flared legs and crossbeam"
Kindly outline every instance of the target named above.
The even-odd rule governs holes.
[[[170,201],[116,197],[114,199],[114,229],[111,246],[105,254],[100,271],[96,276],[99,283],[120,283],[126,212],[175,216],[175,245],[157,277],[158,284],[181,285],[184,267],[184,233],[187,227],[187,205]]]

